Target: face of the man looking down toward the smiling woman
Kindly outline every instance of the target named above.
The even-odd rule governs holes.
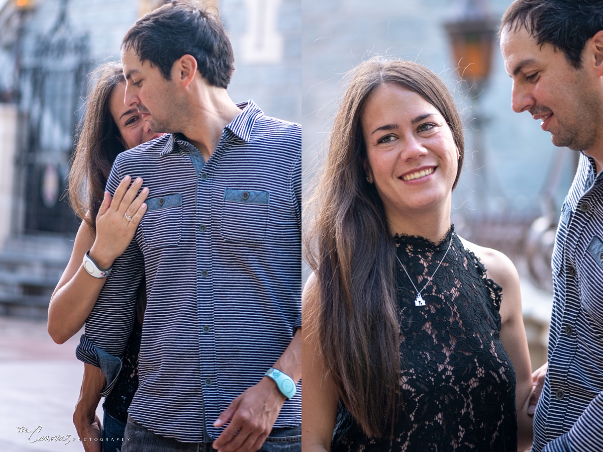
[[[549,43],[538,45],[524,27],[515,30],[514,24],[502,32],[500,50],[513,78],[515,112],[528,110],[540,120],[555,146],[578,151],[598,144],[603,106],[596,77],[573,68],[563,52]]]

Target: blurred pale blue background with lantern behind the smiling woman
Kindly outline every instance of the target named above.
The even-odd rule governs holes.
[[[507,253],[522,282],[532,368],[546,361],[550,258],[578,154],[556,148],[528,112],[511,110],[496,38],[511,0],[306,0],[302,20],[305,195],[320,173],[343,75],[362,60],[413,60],[440,75],[465,124],[466,160],[453,196],[459,235]],[[460,68],[460,71],[456,71]],[[459,81],[459,72],[466,81]]]

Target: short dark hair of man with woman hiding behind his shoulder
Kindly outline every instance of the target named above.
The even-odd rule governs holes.
[[[172,0],[132,25],[122,49],[133,48],[141,61],[159,67],[171,80],[174,62],[189,54],[211,86],[227,88],[235,71],[232,46],[218,17],[187,0]]]

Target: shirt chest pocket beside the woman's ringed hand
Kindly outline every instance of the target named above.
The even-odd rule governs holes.
[[[149,249],[177,246],[182,230],[182,194],[175,193],[147,199],[147,212],[140,228]]]

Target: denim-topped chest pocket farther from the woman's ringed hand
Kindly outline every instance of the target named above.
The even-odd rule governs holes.
[[[221,218],[221,234],[233,243],[259,244],[266,237],[270,193],[227,188]]]

